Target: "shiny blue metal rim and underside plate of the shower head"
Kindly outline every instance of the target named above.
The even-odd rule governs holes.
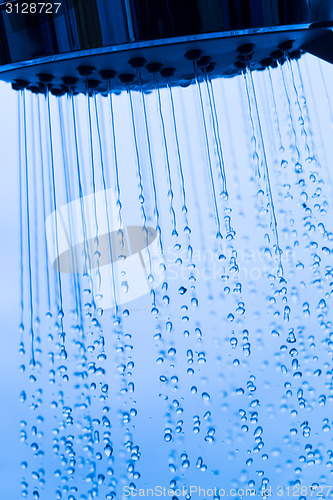
[[[255,28],[132,42],[11,63],[0,66],[0,78],[7,82],[14,82],[14,84],[17,81],[25,81],[27,82],[26,88],[29,89],[40,85],[40,74],[50,74],[53,78],[48,83],[48,88],[63,89],[66,92],[67,89],[66,85],[64,86],[63,78],[71,77],[77,79],[72,91],[86,92],[89,77],[80,75],[77,68],[92,66],[94,71],[91,77],[99,82],[96,91],[105,93],[108,90],[109,86],[106,84],[106,80],[101,77],[100,72],[112,70],[114,72],[112,90],[121,92],[126,90],[128,85],[136,88],[138,69],[140,69],[141,84],[144,89],[149,90],[154,88],[152,77],[154,72],[149,71],[149,64],[160,62],[162,71],[157,72],[160,86],[165,85],[167,82],[186,86],[195,77],[194,61],[188,60],[185,56],[190,50],[200,50],[203,57],[209,56],[212,63],[215,63],[210,71],[213,78],[220,76],[233,77],[241,74],[243,69],[240,61],[242,58],[238,54],[240,46],[248,43],[254,44],[253,55],[251,55],[248,64],[251,70],[261,70],[267,66],[264,61],[270,58],[272,54],[274,56],[277,47],[291,42],[292,49],[289,51],[289,55],[291,58],[297,58],[306,44],[311,43],[327,32],[331,33],[330,30],[321,28],[310,29],[310,25],[294,25],[279,26],[274,29]],[[141,68],[133,68],[129,61],[136,57],[144,58],[147,64]],[[276,61],[275,57],[272,58],[272,63],[274,61]],[[284,61],[280,59],[279,62],[283,63]],[[173,75],[167,78],[164,77],[167,72],[163,73],[163,69],[166,68],[174,69]],[[200,68],[200,64],[198,68]],[[204,66],[201,68],[205,71]],[[131,83],[122,81],[121,76],[128,74],[133,74]],[[40,86],[40,91],[45,91],[45,85]]]

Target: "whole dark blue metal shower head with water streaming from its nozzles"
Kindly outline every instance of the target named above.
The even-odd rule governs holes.
[[[333,62],[332,0],[59,0],[0,4],[0,79],[54,95],[187,85],[287,54]]]

